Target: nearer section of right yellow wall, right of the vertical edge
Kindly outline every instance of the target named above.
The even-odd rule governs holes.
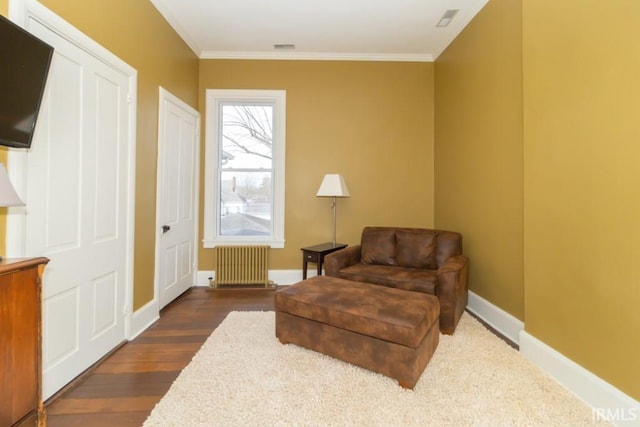
[[[523,22],[525,328],[640,399],[640,2]]]

